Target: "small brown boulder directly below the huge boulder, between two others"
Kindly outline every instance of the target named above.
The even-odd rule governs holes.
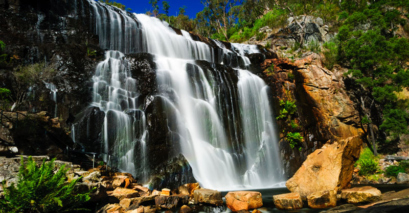
[[[335,207],[336,199],[336,192],[333,190],[316,192],[307,196],[307,202],[310,208]]]

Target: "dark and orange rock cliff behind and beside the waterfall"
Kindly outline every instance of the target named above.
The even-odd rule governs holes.
[[[89,103],[93,95],[92,76],[97,64],[103,60],[104,50],[100,46],[98,35],[92,29],[93,13],[90,11],[92,10],[89,3],[81,0],[59,1],[58,4],[46,0],[0,1],[0,40],[6,43],[5,52],[12,58],[0,67],[0,87],[10,89],[12,96],[17,97],[18,81],[13,73],[19,66],[44,62],[54,70],[50,76],[41,76],[28,87],[27,98],[18,108],[19,111],[27,111],[29,114],[47,112],[42,115],[48,117],[47,122],[52,124],[43,122],[42,127],[35,127],[34,130],[44,133],[22,135],[19,132],[24,131],[24,125],[17,125],[15,129],[12,124],[3,127],[9,127],[7,131],[11,138],[2,138],[2,143],[8,147],[16,146],[19,154],[56,156],[63,153],[67,145],[78,150],[101,151],[105,113],[97,107],[89,108]],[[328,40],[328,35],[324,35],[328,27],[318,22],[320,21],[314,20],[310,24],[308,29],[311,32],[307,36],[310,40]],[[308,154],[324,144],[360,136],[359,113],[345,89],[345,69],[324,68],[322,57],[312,52],[294,60],[278,57],[285,57],[278,51],[280,46],[290,46],[291,42],[297,39],[294,37],[297,35],[297,29],[289,29],[289,32],[279,32],[269,37],[277,40],[273,48],[277,51],[266,51],[259,46],[260,54],[248,55],[252,62],[249,69],[261,76],[272,89],[269,97],[270,102],[274,103],[274,112],[278,114],[281,110],[280,100],[294,100],[297,105],[297,114],[294,116],[299,126],[297,131],[301,132],[304,138],[300,144],[301,149],[290,148],[284,132],[281,131],[289,128],[288,123],[284,120],[277,122],[280,129],[281,157],[288,177],[300,168]],[[177,29],[174,31],[182,34]],[[228,66],[238,66],[238,59],[235,58],[237,56],[226,54],[229,57],[223,58],[215,41],[193,34],[191,37],[217,50],[213,54],[215,58],[221,58],[220,61],[196,61],[195,66],[207,70],[209,75],[216,76],[216,85],[228,83],[220,87],[221,94],[224,99],[232,100],[233,103],[224,103],[221,110],[239,117],[239,114],[233,115],[233,109],[238,105],[237,94],[229,93],[230,88],[237,88],[238,79],[235,71]],[[231,48],[229,43],[224,42],[223,45]],[[163,109],[164,98],[155,96],[158,89],[166,88],[156,88],[154,56],[133,53],[127,54],[126,58],[131,77],[138,83],[138,104],[146,113],[147,128],[150,132],[148,138],[152,142],[147,145],[145,155],[135,157],[135,162],[147,159],[149,163],[146,166],[155,177],[154,184],[157,188],[169,185],[167,180],[171,178],[177,181],[175,185],[193,181],[189,164],[183,156],[179,156],[179,144],[172,143],[178,141],[179,136],[175,134],[176,126],[169,125],[167,121],[174,120],[172,116],[176,115],[167,115]],[[195,66],[192,65],[191,69],[194,70]],[[191,77],[193,79],[197,76],[192,74]],[[58,88],[56,101],[52,97],[51,83]],[[138,116],[142,115],[135,114],[135,119],[139,119]],[[17,120],[15,117],[11,119]],[[222,122],[232,121],[225,118]],[[233,122],[237,128],[235,130],[242,132],[237,120]],[[58,128],[50,130],[48,126],[52,125]],[[76,131],[73,132],[73,129]],[[236,135],[229,140],[240,141],[241,137],[242,135]],[[30,144],[30,149],[25,148],[27,144]],[[232,146],[238,153],[243,152],[240,144]],[[47,147],[56,148],[51,150]],[[135,149],[141,149],[140,145],[135,145]]]

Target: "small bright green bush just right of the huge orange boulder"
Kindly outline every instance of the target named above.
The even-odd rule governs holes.
[[[359,175],[372,175],[379,170],[378,162],[368,147],[363,149],[355,166],[359,167]]]

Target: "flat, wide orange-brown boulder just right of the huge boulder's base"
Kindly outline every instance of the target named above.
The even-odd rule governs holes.
[[[342,190],[341,198],[348,203],[373,202],[381,199],[381,192],[374,187],[359,187]]]

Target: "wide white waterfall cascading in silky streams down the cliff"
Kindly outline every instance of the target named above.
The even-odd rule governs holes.
[[[156,96],[175,118],[168,120],[179,136],[172,143],[180,145],[202,187],[267,188],[284,181],[268,87],[247,70],[246,54],[258,52],[256,45],[227,48],[212,40],[212,47],[157,18],[89,2],[92,29],[109,49],[93,76],[92,105],[105,112],[102,151],[113,150],[119,169],[148,181],[144,156],[156,132],[147,130],[125,55],[148,52],[156,63]],[[144,160],[135,162],[137,155]]]

